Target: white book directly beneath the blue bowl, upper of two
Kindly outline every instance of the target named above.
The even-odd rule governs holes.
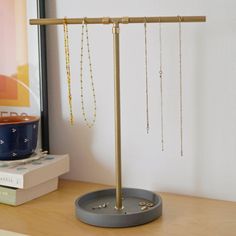
[[[31,188],[69,171],[69,155],[46,155],[18,166],[0,167],[0,185]]]

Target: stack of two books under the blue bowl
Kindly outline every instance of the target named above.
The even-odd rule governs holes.
[[[0,203],[18,206],[50,193],[58,188],[59,176],[68,171],[68,155],[43,155],[25,162],[1,162]]]

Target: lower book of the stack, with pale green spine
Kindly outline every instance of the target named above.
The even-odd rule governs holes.
[[[0,186],[0,203],[18,206],[50,193],[57,188],[58,177],[27,189]]]

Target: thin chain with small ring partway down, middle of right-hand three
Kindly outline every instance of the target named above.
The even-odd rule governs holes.
[[[161,22],[159,23],[159,43],[160,43],[160,94],[161,94],[161,150],[164,151],[164,124],[163,124],[163,69],[162,69],[162,32],[161,32]]]

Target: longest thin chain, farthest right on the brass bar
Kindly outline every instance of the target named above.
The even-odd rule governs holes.
[[[180,98],[180,154],[183,152],[183,82],[182,82],[182,29],[181,16],[179,16],[179,98]]]

